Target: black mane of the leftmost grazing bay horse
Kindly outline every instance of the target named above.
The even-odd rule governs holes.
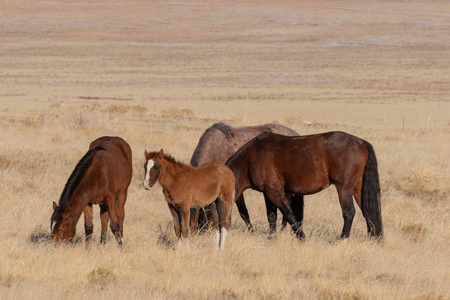
[[[75,169],[72,171],[72,174],[70,175],[69,179],[67,179],[66,185],[64,186],[64,190],[61,194],[61,197],[59,198],[58,208],[53,213],[52,220],[60,218],[61,214],[67,208],[69,208],[69,200],[73,194],[73,191],[80,184],[81,179],[83,179],[84,177],[84,174],[86,174],[87,169],[91,165],[94,154],[100,150],[105,150],[105,148],[97,146],[93,149],[90,149],[75,166]]]

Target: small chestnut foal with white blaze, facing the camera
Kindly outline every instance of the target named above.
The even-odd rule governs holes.
[[[145,189],[150,190],[156,183],[163,188],[163,194],[172,213],[178,246],[182,240],[188,242],[190,209],[216,203],[217,219],[214,230],[218,249],[225,248],[230,230],[229,213],[234,201],[234,175],[221,163],[206,163],[193,167],[176,161],[172,156],[145,150]]]

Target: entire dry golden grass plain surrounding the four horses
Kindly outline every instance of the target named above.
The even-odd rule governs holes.
[[[447,1],[3,1],[0,5],[0,299],[450,299],[450,5]],[[305,198],[305,241],[269,239],[245,193],[224,252],[175,250],[143,152],[188,163],[215,122],[342,130],[375,148],[384,243],[334,187]],[[124,246],[49,243],[52,202],[89,143],[133,149]]]

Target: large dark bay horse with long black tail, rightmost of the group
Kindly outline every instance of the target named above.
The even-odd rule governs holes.
[[[280,209],[300,239],[302,220],[293,215],[285,196],[315,194],[334,184],[344,218],[341,238],[350,236],[355,215],[353,197],[370,236],[382,238],[380,182],[370,143],[345,132],[288,137],[262,133],[226,163],[236,180],[236,198],[247,188],[264,194]]]

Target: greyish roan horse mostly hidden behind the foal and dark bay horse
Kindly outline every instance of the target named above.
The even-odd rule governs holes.
[[[298,133],[294,130],[279,124],[264,124],[258,126],[230,126],[225,123],[215,123],[202,134],[198,141],[197,147],[192,154],[190,164],[198,167],[204,163],[220,162],[226,163],[227,160],[236,153],[244,144],[252,138],[263,132],[274,132],[288,136],[297,136]],[[292,195],[286,195],[289,199]],[[303,195],[294,196],[296,199],[292,201],[293,211],[297,219],[303,218]],[[241,218],[244,220],[247,228],[253,230],[250,222],[250,216],[245,205],[244,196],[236,198],[236,205],[239,210]],[[212,204],[214,206],[214,203]],[[273,206],[270,201],[266,199],[267,219],[269,220],[269,230],[271,233],[276,231],[277,222],[277,208]],[[215,211],[213,208],[212,211]],[[204,213],[202,213],[204,212]],[[204,211],[199,208],[191,210],[190,227],[191,231],[195,232],[198,228],[206,228],[207,214],[209,207],[205,207]],[[283,228],[286,225],[286,220],[283,218]]]

